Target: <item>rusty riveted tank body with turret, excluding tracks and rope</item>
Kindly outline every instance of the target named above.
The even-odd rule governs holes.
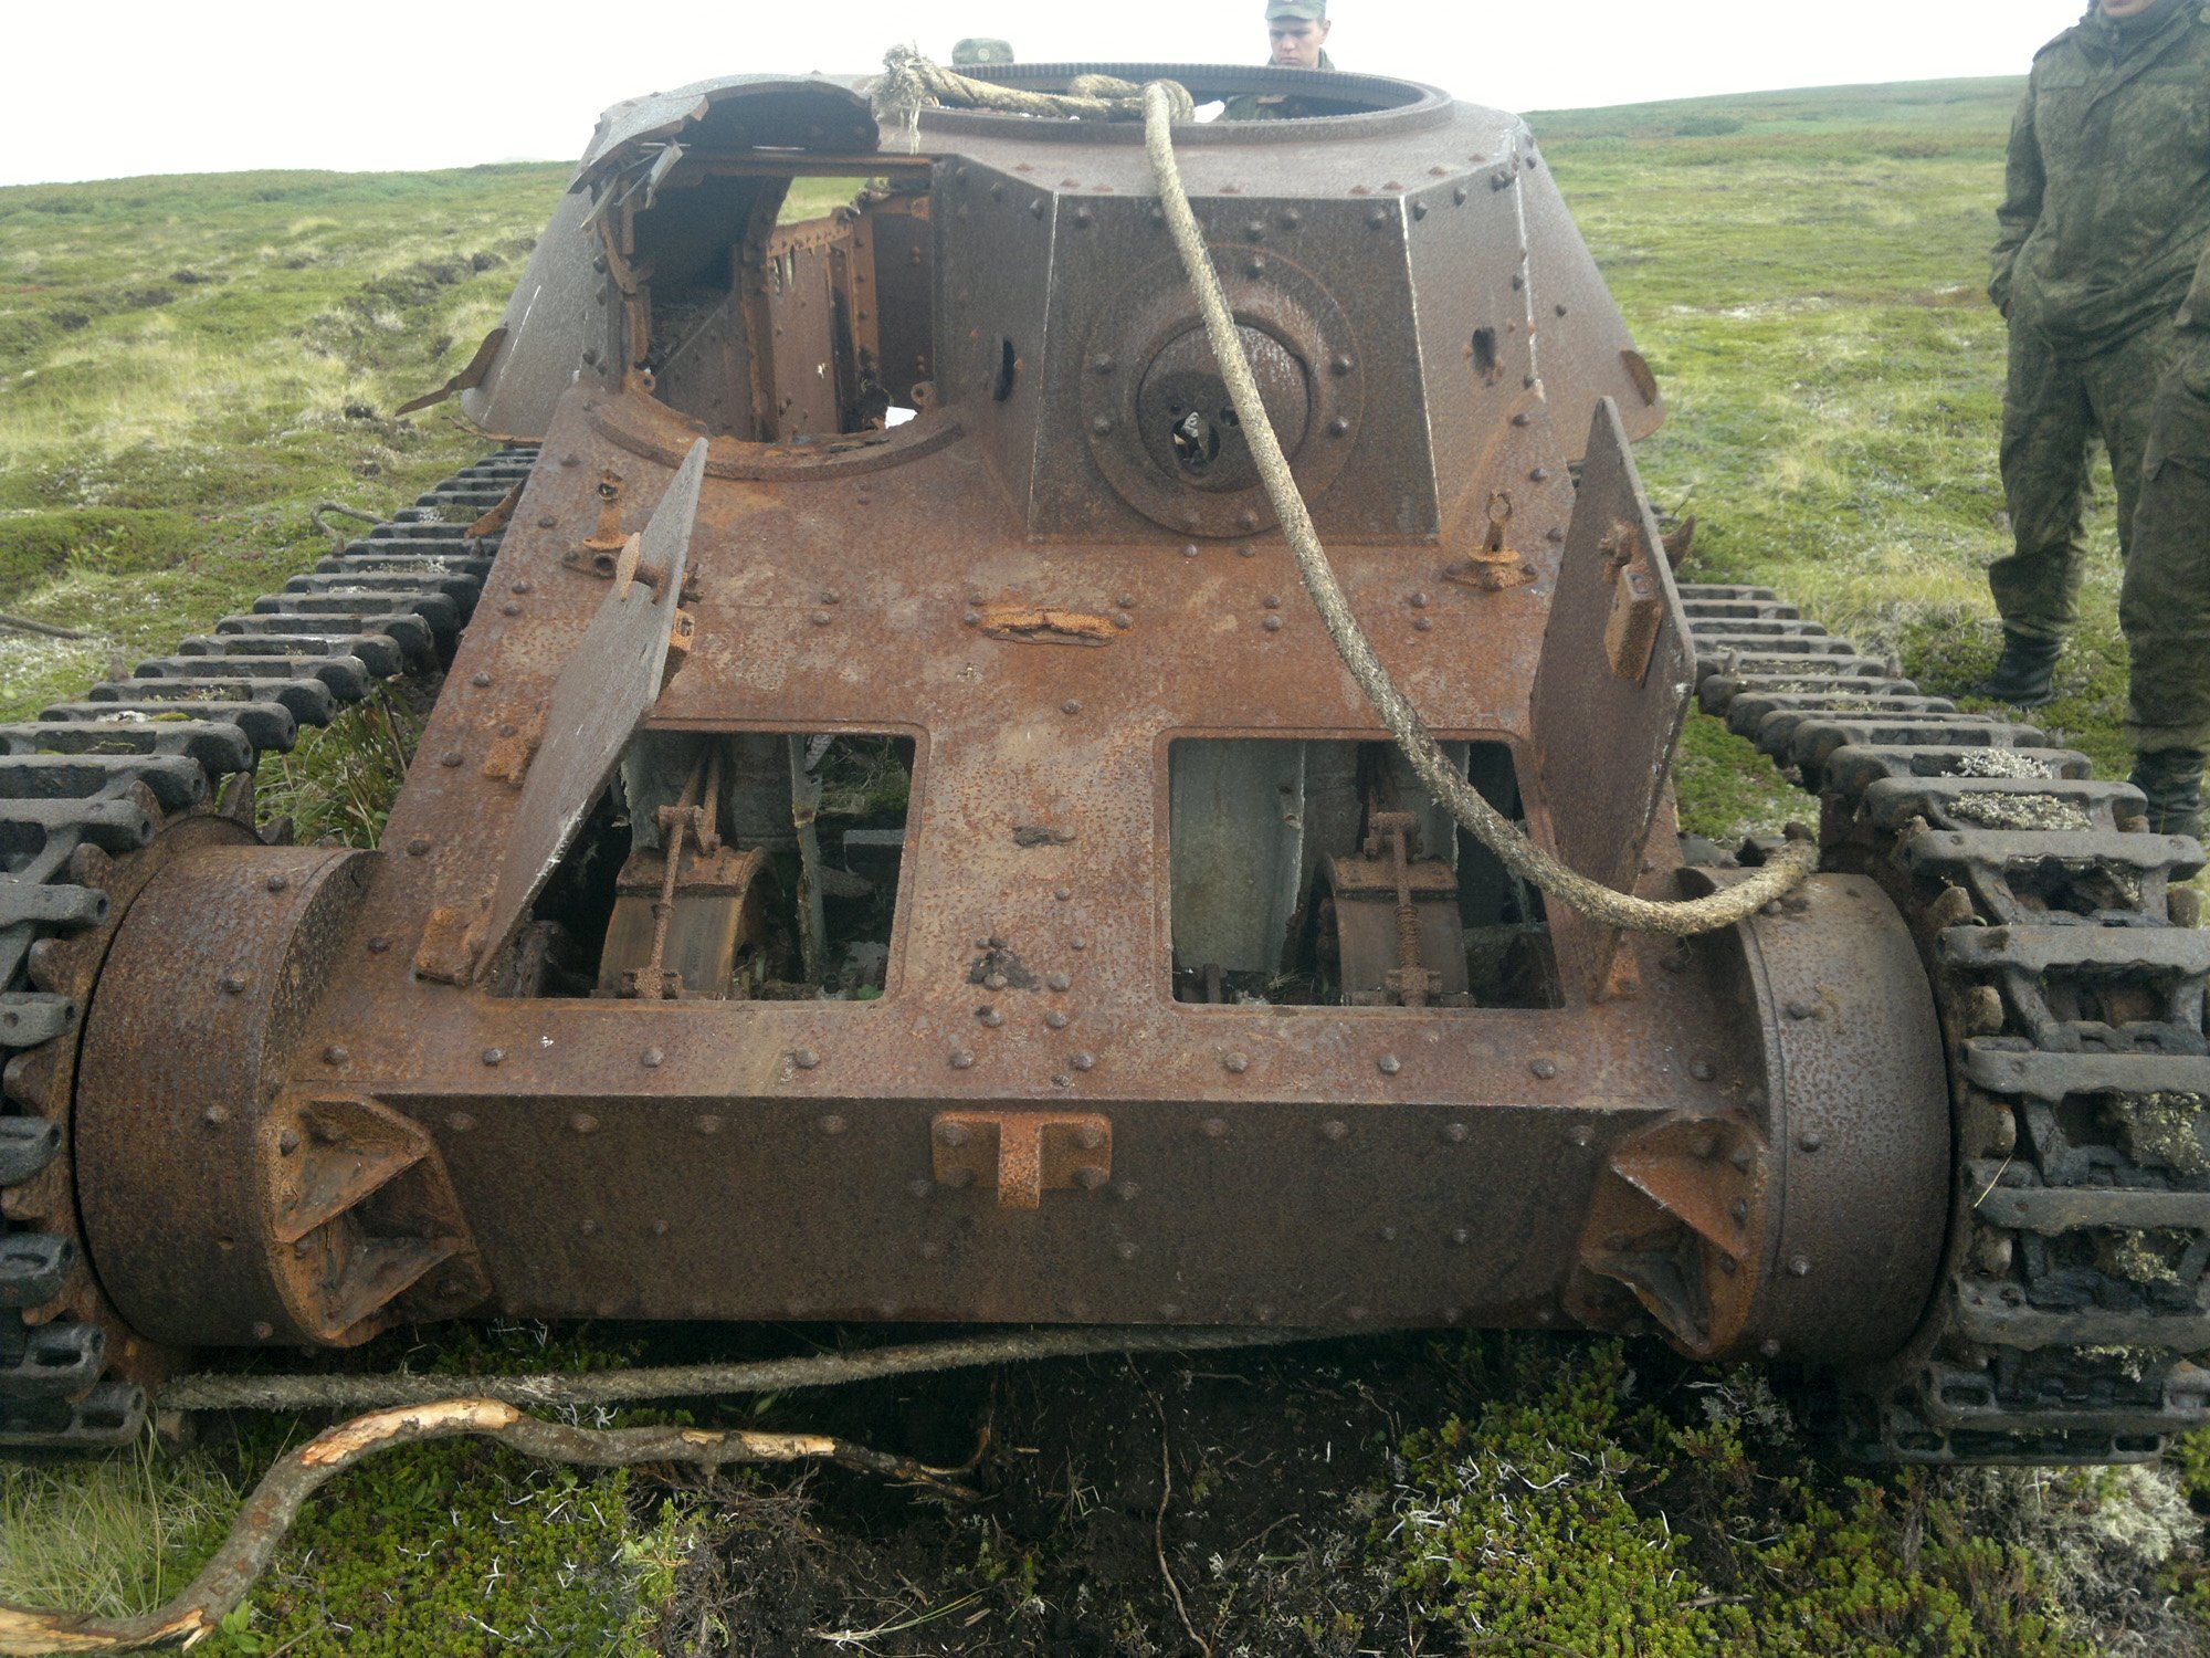
[[[1191,71],[1200,91],[1253,75]],[[1350,604],[1428,727],[1507,760],[1516,791],[1496,787],[1536,840],[1673,893],[1664,776],[1691,674],[1624,447],[1662,413],[1646,369],[1523,124],[1399,82],[1299,84],[1344,113],[1189,128],[1185,175]],[[199,1130],[221,1130],[225,1169],[144,1158],[133,1211],[102,1209],[93,1249],[128,1304],[212,1340],[351,1340],[378,1307],[475,1295],[484,1313],[625,1318],[1655,1315],[1697,1351],[1890,1355],[1934,1276],[1892,1234],[1938,1238],[1947,1154],[1867,1130],[1834,1161],[1872,1169],[1885,1207],[1797,1200],[1819,1167],[1779,1150],[1797,1112],[1856,1136],[1901,1083],[1783,1028],[1777,937],[1739,944],[1748,957],[1629,940],[1609,962],[1609,942],[1527,900],[1520,942],[1558,970],[1529,973],[1514,1006],[1448,1006],[1459,982],[1403,962],[1383,984],[1425,1006],[1326,988],[1291,1006],[1264,982],[1266,937],[1295,931],[1284,886],[1253,946],[1264,999],[1176,997],[1176,968],[1204,962],[1176,959],[1174,743],[1383,734],[1244,469],[1134,128],[930,113],[917,155],[860,168],[891,192],[771,228],[789,179],[849,166],[853,137],[745,113],[849,97],[692,91],[601,135],[524,281],[555,314],[533,323],[517,292],[466,393],[544,440],[493,601],[457,641],[382,849],[314,931],[327,955],[296,979],[298,1039],[210,1061],[228,1116]],[[893,409],[915,418],[888,424]],[[692,489],[694,634],[661,690],[656,663],[621,668],[588,639],[601,555],[654,513],[692,520]],[[807,738],[911,743],[880,999],[617,1001],[491,959],[451,970],[471,917],[535,886],[603,776],[533,789],[557,756],[526,738],[579,696],[650,707],[667,745],[800,738],[793,769]],[[776,800],[807,847],[813,796]],[[577,882],[590,858],[614,880],[634,805],[612,802]],[[1302,856],[1284,880],[1304,880]],[[1470,853],[1421,858],[1445,871],[1423,875],[1439,893],[1498,886]],[[234,880],[181,880],[155,891],[148,928],[236,898]],[[1872,948],[1885,900],[1837,902],[1874,906],[1848,962],[1867,1019],[1923,1006],[1918,964]],[[225,911],[208,933],[243,924]],[[301,931],[272,922],[241,970],[281,973]],[[1408,955],[1425,962],[1425,940]],[[230,1030],[243,1001],[219,966],[104,986],[88,1052],[126,1048],[155,1017],[133,999],[155,995],[161,1030]],[[515,993],[539,984],[555,993]],[[164,1057],[164,1099],[183,1099],[188,1061]],[[128,1134],[122,1092],[82,1105],[110,1138]],[[409,1172],[413,1231],[367,1189],[345,1214],[411,1238],[407,1265],[438,1262],[312,1304],[276,1269],[245,1284],[146,1260],[150,1236],[194,1225],[201,1249],[188,1216],[210,1183],[252,1163],[274,1189],[283,1134],[316,1123],[365,1167]],[[1717,1167],[1682,1161],[1706,1141]],[[1653,1253],[1635,1227],[1591,1245],[1607,1205],[1653,1211],[1673,1267],[1633,1260]],[[225,1236],[250,1258],[283,1253],[267,1214],[265,1236],[241,1227]],[[1697,1253],[1722,1238],[1733,1271]],[[1777,1282],[1781,1249],[1817,1276]],[[1691,1293],[1682,1262],[1724,1291]],[[1825,1318],[1817,1298],[1867,1271],[1872,1311]]]

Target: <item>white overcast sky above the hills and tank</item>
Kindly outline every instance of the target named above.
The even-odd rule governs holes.
[[[2086,0],[1335,0],[1344,69],[1505,108],[2016,75]],[[630,38],[623,38],[623,29]],[[913,40],[1041,60],[1262,60],[1262,0],[108,0],[4,27],[0,183],[575,159],[617,97],[864,73]]]

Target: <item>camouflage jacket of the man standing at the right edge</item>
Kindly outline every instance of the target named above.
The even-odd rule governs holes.
[[[2170,318],[2210,248],[2210,4],[2097,4],[2049,42],[1996,217],[1989,296],[2013,325],[2093,351]]]

